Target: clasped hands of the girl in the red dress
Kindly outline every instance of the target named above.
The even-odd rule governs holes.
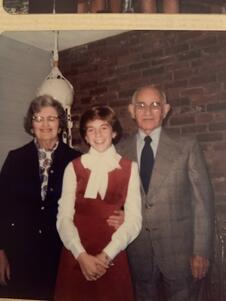
[[[81,271],[86,280],[97,280],[107,271],[108,264],[97,256],[89,255],[86,252],[81,253],[77,258]]]

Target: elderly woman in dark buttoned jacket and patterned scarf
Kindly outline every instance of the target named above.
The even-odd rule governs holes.
[[[65,112],[48,95],[31,102],[24,128],[34,139],[10,151],[0,173],[0,297],[50,300],[57,201],[65,166],[80,153],[62,142]]]

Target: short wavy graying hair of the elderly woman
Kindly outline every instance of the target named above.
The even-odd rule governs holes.
[[[32,133],[32,121],[34,114],[37,114],[44,107],[53,107],[58,114],[59,118],[59,128],[61,129],[61,133],[67,129],[67,116],[64,111],[63,106],[59,101],[54,99],[50,95],[42,95],[34,98],[27,110],[27,114],[24,118],[24,129],[25,131],[33,136]]]

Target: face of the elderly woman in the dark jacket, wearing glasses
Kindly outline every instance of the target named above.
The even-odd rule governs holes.
[[[43,107],[39,113],[35,113],[32,121],[32,129],[38,143],[56,143],[59,133],[59,118],[55,108]]]

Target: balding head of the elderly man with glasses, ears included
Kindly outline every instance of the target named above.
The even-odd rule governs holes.
[[[129,111],[138,127],[147,135],[162,125],[169,110],[170,106],[164,103],[159,91],[149,87],[140,90],[135,103],[129,105]]]

